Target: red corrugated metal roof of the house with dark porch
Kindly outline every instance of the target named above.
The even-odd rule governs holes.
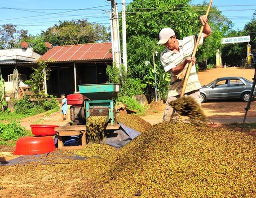
[[[111,43],[87,43],[79,45],[56,46],[41,56],[40,60],[111,60],[111,47]]]

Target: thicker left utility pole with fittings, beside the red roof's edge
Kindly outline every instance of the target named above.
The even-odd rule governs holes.
[[[115,3],[115,0],[108,0],[111,1],[111,24],[112,24],[112,42],[114,48],[112,49],[112,53],[114,55],[114,62],[116,63],[116,66],[120,68],[121,64],[121,52],[120,52],[120,42],[119,42],[119,24],[118,24],[118,13],[117,13],[117,4]]]

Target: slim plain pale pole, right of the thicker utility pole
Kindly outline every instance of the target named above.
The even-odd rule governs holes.
[[[122,30],[123,30],[123,64],[127,71],[127,49],[126,49],[126,18],[125,18],[125,0],[122,0]]]

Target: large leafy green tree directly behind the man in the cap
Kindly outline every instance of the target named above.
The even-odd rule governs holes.
[[[128,67],[134,77],[143,78],[150,69],[144,64],[145,60],[152,62],[153,52],[163,51],[164,47],[156,44],[162,28],[171,27],[178,39],[199,33],[199,16],[206,13],[208,4],[192,6],[189,3],[190,0],[133,0],[127,6]],[[214,33],[199,48],[198,61],[215,56],[222,35],[231,25],[219,10],[214,7],[211,10],[209,22]],[[159,59],[156,59],[156,64],[161,65]]]

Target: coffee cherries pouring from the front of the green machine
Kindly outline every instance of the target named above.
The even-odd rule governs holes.
[[[101,143],[104,142],[106,125],[106,116],[90,116],[87,119],[86,142]]]

